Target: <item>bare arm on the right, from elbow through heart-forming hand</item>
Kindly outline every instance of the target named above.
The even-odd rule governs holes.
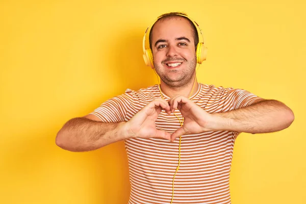
[[[172,97],[169,105],[171,112],[177,108],[184,116],[184,125],[171,135],[171,141],[186,133],[206,131],[275,132],[289,127],[294,120],[291,109],[277,100],[261,99],[224,113],[208,113],[181,95]]]

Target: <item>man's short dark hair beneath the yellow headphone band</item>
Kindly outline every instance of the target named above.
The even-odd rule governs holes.
[[[195,27],[194,23],[193,23],[189,18],[187,18],[187,17],[185,17],[185,16],[182,16],[182,15],[187,16],[187,14],[182,13],[182,12],[165,13],[165,14],[163,14],[163,15],[160,15],[160,16],[158,17],[159,19],[158,19],[155,23],[157,23],[157,22],[160,21],[160,20],[171,19],[171,18],[177,18],[177,17],[182,17],[182,18],[187,19],[188,22],[189,22],[190,25],[191,25],[192,30],[193,30],[194,46],[195,46],[195,49],[196,49],[196,46],[197,46],[197,44],[198,44],[198,42],[199,42],[199,36],[198,36],[198,32],[197,32],[197,30],[196,30],[196,27]],[[150,30],[150,33],[149,33],[149,43],[150,43],[150,48],[151,48],[151,50],[152,50],[152,30],[153,30],[153,28],[154,28],[155,23],[152,25],[151,30]]]

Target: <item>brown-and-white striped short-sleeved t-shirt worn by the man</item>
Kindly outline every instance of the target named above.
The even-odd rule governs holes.
[[[169,97],[163,93],[165,100]],[[107,100],[91,114],[104,122],[129,121],[155,98],[160,98],[159,86],[133,91]],[[261,99],[242,89],[200,84],[190,99],[208,113],[226,112],[246,107]],[[182,120],[179,110],[175,113]],[[162,111],[156,128],[169,133],[179,129],[174,114]],[[210,131],[186,134],[181,141],[181,164],[174,180],[173,204],[231,203],[230,170],[233,148],[238,132]],[[129,161],[131,193],[129,204],[170,203],[172,180],[179,160],[179,138],[133,138],[125,140]]]

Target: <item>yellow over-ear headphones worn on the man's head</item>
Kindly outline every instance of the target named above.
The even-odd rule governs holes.
[[[202,62],[204,60],[206,60],[207,47],[204,44],[202,31],[201,31],[199,25],[193,19],[188,17],[187,15],[184,15],[184,14],[181,14],[181,13],[173,13],[173,14],[178,15],[178,16],[184,16],[184,17],[188,18],[189,20],[191,20],[191,22],[195,25],[195,28],[196,28],[196,31],[197,31],[197,34],[198,34],[198,38],[199,38],[199,42],[196,46],[196,63],[202,64]],[[149,27],[146,29],[146,31],[144,33],[143,41],[142,41],[144,62],[146,64],[146,66],[150,66],[152,69],[154,69],[153,54],[152,54],[152,50],[151,50],[150,45],[149,45],[149,39],[148,39],[149,35],[146,35],[146,34],[147,33],[150,34],[150,30],[151,30],[152,26],[154,25],[154,23],[162,17],[164,17],[164,16],[160,16],[154,22],[152,22],[151,25],[149,25]],[[202,36],[202,37],[200,38],[200,36]]]

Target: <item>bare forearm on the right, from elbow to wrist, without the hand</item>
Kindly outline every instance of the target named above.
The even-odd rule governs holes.
[[[277,100],[263,100],[242,109],[213,116],[216,130],[253,134],[281,131],[294,120],[291,109]]]

